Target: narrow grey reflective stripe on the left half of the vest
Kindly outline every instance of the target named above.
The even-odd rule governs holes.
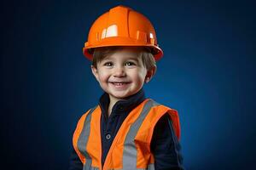
[[[84,127],[82,129],[82,132],[80,133],[79,140],[78,140],[78,149],[80,153],[82,153],[85,157],[86,163],[84,164],[83,170],[89,170],[92,169],[91,167],[91,158],[86,151],[86,145],[90,136],[90,119],[91,119],[91,113],[95,111],[96,107],[90,110],[90,112],[87,114],[84,120]]]

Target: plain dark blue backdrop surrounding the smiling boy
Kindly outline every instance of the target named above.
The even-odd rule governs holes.
[[[2,167],[67,169],[76,123],[102,94],[82,47],[119,4],[154,24],[165,55],[144,89],[179,111],[185,167],[253,169],[255,3],[179,0],[2,1]]]

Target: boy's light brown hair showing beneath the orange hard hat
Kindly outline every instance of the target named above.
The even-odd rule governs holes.
[[[125,47],[112,46],[112,47],[95,48],[93,50],[92,65],[95,68],[97,68],[97,63],[101,62],[102,59],[123,48]],[[138,50],[137,56],[142,59],[143,65],[146,67],[147,70],[152,69],[156,65],[154,55],[151,53],[151,48],[147,48],[147,47],[131,47],[131,48],[136,48]]]

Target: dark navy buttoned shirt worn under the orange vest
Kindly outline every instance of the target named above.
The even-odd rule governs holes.
[[[125,121],[131,110],[141,104],[144,99],[145,95],[143,89],[141,89],[137,94],[129,96],[127,99],[119,100],[113,105],[112,112],[108,117],[109,97],[106,93],[102,94],[99,102],[102,110],[102,165],[122,122]],[[150,147],[154,154],[155,170],[183,170],[181,146],[167,114],[162,116],[159,122],[156,123]],[[83,164],[75,150],[73,150],[69,170],[82,169]]]

